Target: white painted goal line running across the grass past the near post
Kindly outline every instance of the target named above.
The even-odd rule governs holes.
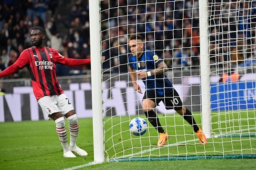
[[[164,146],[157,146],[155,148],[152,148],[152,149],[146,149],[144,151],[141,151],[141,152],[137,152],[137,153],[134,153],[134,154],[130,154],[130,155],[124,155],[122,157],[117,157],[115,159],[119,159],[119,158],[129,158],[129,157],[132,157],[134,155],[140,155],[140,154],[144,154],[144,153],[147,153],[147,152],[151,152],[151,151],[154,151],[156,149],[162,149],[162,148],[166,148],[166,147],[171,147],[171,146],[177,146],[177,145],[181,145],[181,144],[184,144],[184,143],[187,143],[187,142],[193,142],[193,141],[196,141],[197,139],[195,140],[187,140],[187,141],[182,141],[182,142],[177,142],[177,143],[172,143],[172,144],[169,144],[169,145],[164,145]],[[76,169],[79,169],[79,168],[83,168],[83,167],[89,167],[91,165],[96,165],[96,164],[101,164],[103,162],[89,162],[87,164],[83,164],[83,165],[79,165],[79,166],[76,166],[76,167],[70,167],[70,168],[65,168],[63,170],[76,170]]]

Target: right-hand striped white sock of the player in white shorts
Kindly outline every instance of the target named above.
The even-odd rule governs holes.
[[[78,137],[78,132],[79,132],[79,124],[78,124],[78,119],[77,115],[71,115],[67,118],[69,121],[69,134],[70,134],[70,147],[73,148],[76,146],[76,140]]]

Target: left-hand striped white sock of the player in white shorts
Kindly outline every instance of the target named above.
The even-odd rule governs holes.
[[[56,123],[56,132],[59,136],[60,143],[62,145],[63,151],[68,152],[70,151],[68,146],[68,136],[67,131],[65,128],[65,119],[64,117],[58,118],[55,120]]]

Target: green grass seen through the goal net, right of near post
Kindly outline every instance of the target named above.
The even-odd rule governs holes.
[[[201,124],[200,113],[193,112],[193,114],[197,124]],[[247,115],[250,117],[254,115],[254,112],[247,112]],[[144,115],[140,115],[140,117],[145,118]],[[148,131],[141,137],[134,136],[129,132],[129,121],[132,118],[134,116],[116,116],[104,119],[105,149],[109,158],[256,154],[256,137],[210,138],[207,139],[207,145],[200,144],[192,127],[177,113],[159,114],[159,120],[169,135],[168,141],[165,142],[165,145],[169,145],[169,147],[159,148],[156,146],[157,131],[150,123],[148,123]],[[145,120],[147,119],[145,118]],[[224,121],[223,118],[221,120]],[[215,122],[217,121],[215,120]],[[239,123],[240,127],[248,127],[248,121]],[[225,132],[226,129],[231,129],[231,123],[226,124],[228,125],[226,128],[225,124],[222,124],[222,129],[225,129]],[[249,124],[254,126],[250,132],[255,134],[255,120],[250,119]],[[218,126],[218,123],[214,125]],[[233,129],[239,130],[240,127],[236,126]]]

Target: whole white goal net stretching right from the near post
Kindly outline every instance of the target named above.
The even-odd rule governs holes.
[[[105,159],[255,158],[256,2],[99,2],[101,53],[106,57],[102,63]],[[203,9],[206,9],[204,14]],[[203,18],[206,22],[202,22]],[[165,75],[206,133],[206,145],[198,141],[193,128],[181,115],[166,110],[161,102],[154,111],[169,138],[164,146],[157,146],[159,134],[141,105],[144,83],[138,77],[142,94],[134,91],[129,75],[128,43],[132,34],[141,35],[145,49],[164,60],[169,68]],[[147,121],[147,132],[142,136],[129,131],[129,122],[135,117]]]

